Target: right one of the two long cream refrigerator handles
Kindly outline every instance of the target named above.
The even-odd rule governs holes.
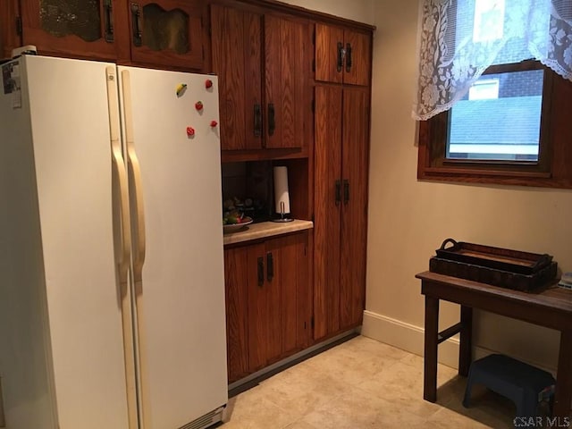
[[[125,138],[127,146],[127,162],[129,173],[130,194],[135,213],[131,217],[131,232],[133,240],[133,280],[142,282],[143,264],[145,263],[145,212],[143,209],[143,190],[141,188],[141,169],[135,151],[133,135],[133,114],[131,107],[131,85],[128,70],[122,71],[123,113],[125,114]]]

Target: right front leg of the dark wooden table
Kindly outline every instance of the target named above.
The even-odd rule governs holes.
[[[560,332],[560,351],[554,394],[554,416],[570,415],[572,400],[572,331]]]

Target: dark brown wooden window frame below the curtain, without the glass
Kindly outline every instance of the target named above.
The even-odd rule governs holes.
[[[538,162],[447,159],[446,111],[417,122],[417,179],[572,188],[572,81],[532,60],[492,65],[484,75],[539,69],[544,82]]]

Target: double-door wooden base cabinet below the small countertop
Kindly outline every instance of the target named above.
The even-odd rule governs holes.
[[[229,383],[309,346],[308,233],[224,249]]]

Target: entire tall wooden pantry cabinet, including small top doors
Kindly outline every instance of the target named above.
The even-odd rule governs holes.
[[[371,33],[315,25],[316,341],[363,320],[371,49]]]

